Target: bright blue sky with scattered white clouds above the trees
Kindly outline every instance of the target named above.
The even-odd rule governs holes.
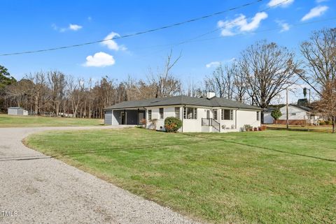
[[[109,34],[123,36],[252,1],[2,0],[0,54],[85,43],[104,39]],[[287,0],[261,13],[281,1],[286,0],[264,0],[205,20],[105,45],[0,57],[0,64],[17,79],[25,73],[50,69],[85,78],[99,79],[103,75],[118,80],[127,75],[146,78],[148,68],[162,66],[172,48],[176,56],[182,52],[174,75],[185,83],[200,82],[219,61],[230,63],[256,40],[267,39],[297,51],[311,31],[336,27],[336,20],[305,24],[335,17],[335,0]],[[174,45],[214,29],[218,30],[192,42]]]

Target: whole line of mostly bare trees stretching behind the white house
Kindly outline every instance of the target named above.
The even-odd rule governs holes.
[[[35,114],[52,112],[73,117],[102,118],[103,108],[124,100],[184,94],[216,96],[267,108],[285,89],[304,82],[318,96],[316,107],[335,126],[336,29],[321,29],[300,44],[300,54],[276,43],[260,40],[246,47],[232,63],[220,64],[202,84],[183,86],[172,70],[181,58],[168,54],[164,66],[149,70],[146,80],[128,76],[118,82],[109,77],[84,80],[60,71],[25,75],[20,81],[0,67],[0,107],[22,106]],[[184,88],[183,88],[184,87]],[[333,100],[335,102],[335,100]]]

